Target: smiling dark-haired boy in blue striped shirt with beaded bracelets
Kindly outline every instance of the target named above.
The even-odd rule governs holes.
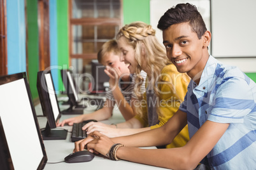
[[[143,133],[110,139],[96,131],[76,142],[74,151],[87,148],[112,160],[170,169],[194,169],[201,162],[205,169],[255,170],[255,82],[209,55],[211,32],[196,6],[178,4],[167,10],[158,28],[168,58],[191,77],[179,110],[164,126]],[[190,140],[184,147],[136,148],[166,145],[186,124]]]

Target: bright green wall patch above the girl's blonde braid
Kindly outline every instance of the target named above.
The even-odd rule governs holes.
[[[123,0],[124,24],[141,21],[150,24],[150,0]]]

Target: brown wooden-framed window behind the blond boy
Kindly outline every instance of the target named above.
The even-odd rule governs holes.
[[[73,73],[90,73],[91,60],[122,25],[122,0],[69,0],[69,56]],[[87,89],[87,80],[80,89]],[[85,83],[85,84],[84,84]]]

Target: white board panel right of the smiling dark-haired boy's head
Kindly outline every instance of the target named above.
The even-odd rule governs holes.
[[[256,1],[211,1],[212,51],[215,57],[256,57]]]

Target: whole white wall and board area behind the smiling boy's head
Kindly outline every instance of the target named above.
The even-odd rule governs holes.
[[[256,0],[211,0],[211,23],[210,0],[150,0],[150,24],[157,30],[160,42],[162,32],[157,29],[160,16],[178,3],[196,5],[207,29],[212,28],[211,55],[243,72],[256,72]]]

